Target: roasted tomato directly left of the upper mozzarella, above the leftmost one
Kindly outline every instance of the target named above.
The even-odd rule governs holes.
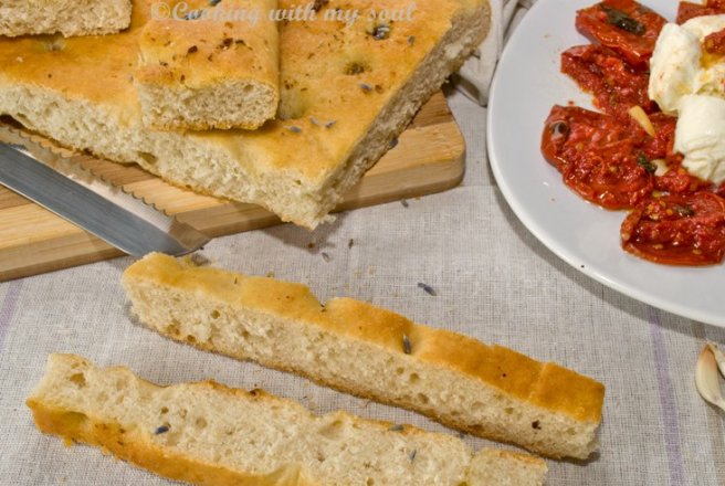
[[[628,116],[627,110],[634,105],[645,113],[659,109],[648,96],[649,75],[631,67],[611,49],[591,44],[571,47],[561,54],[561,72],[593,94],[595,106],[610,115]]]

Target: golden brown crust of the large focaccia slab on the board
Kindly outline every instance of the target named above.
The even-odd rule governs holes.
[[[135,0],[132,27],[119,35],[69,39],[59,45],[46,39],[0,39],[0,65],[3,66],[0,95],[18,86],[48,91],[66,99],[92,104],[108,114],[112,126],[143,130],[133,73],[139,55],[139,36],[150,19],[154,3],[154,0]],[[283,9],[292,4],[295,4],[292,0],[280,2]],[[254,131],[189,135],[199,147],[213,147],[223,152],[244,173],[288,181],[290,192],[302,188],[298,190],[309,199],[308,204],[321,204],[322,213],[311,214],[305,220],[295,215],[300,224],[312,228],[323,220],[332,209],[329,204],[334,205],[342,198],[334,191],[330,194],[330,190],[351,186],[375,163],[389,140],[440,86],[425,83],[432,78],[442,82],[488,29],[487,0],[418,1],[413,21],[395,22],[388,25],[389,31],[367,20],[358,20],[350,28],[346,28],[345,22],[325,20],[325,14],[335,12],[338,7],[350,11],[359,9],[361,15],[367,15],[372,4],[378,9],[400,7],[398,0],[332,0],[321,9],[317,20],[283,22],[280,28],[280,51],[284,53],[280,119]],[[448,50],[440,47],[443,52],[439,56],[443,60],[434,72],[420,77],[422,74],[418,70],[430,61],[431,53],[444,38],[452,51],[456,47],[462,51],[456,53],[455,60],[445,60]],[[410,85],[412,80],[416,83]],[[417,86],[424,88],[413,93]],[[399,99],[401,94],[406,95],[404,99]],[[386,112],[393,104],[404,110],[404,115]],[[0,106],[0,113],[3,110],[6,108]],[[8,115],[22,114],[11,112]],[[391,126],[390,119],[399,119],[399,123]],[[33,120],[33,125],[42,127],[43,122]],[[383,134],[371,142],[366,134],[376,128]],[[59,141],[94,149],[78,146],[74,140]],[[375,148],[360,145],[364,141],[374,144]],[[129,160],[122,161],[136,161],[155,173],[159,173],[160,167],[167,167],[148,163],[135,150],[148,151],[132,146],[127,151]],[[174,167],[172,162],[176,161],[168,161],[168,165]],[[159,175],[182,186],[190,183],[175,180],[168,170]],[[234,197],[220,193],[218,188],[208,187],[203,181],[193,187],[217,196]],[[293,218],[271,201],[253,202],[265,204],[285,220]]]

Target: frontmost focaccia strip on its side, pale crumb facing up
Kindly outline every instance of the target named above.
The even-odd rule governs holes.
[[[38,427],[199,485],[535,486],[546,464],[212,381],[158,387],[126,368],[51,355],[28,399]]]

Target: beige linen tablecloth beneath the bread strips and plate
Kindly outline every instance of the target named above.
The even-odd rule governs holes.
[[[641,304],[558,260],[496,188],[485,108],[461,93],[449,101],[467,142],[461,187],[344,213],[315,233],[281,225],[217,239],[203,255],[224,268],[303,282],[322,299],[369,300],[602,381],[601,452],[587,463],[549,461],[549,485],[725,485],[723,415],[701,400],[693,379],[704,342],[725,344],[725,330]],[[50,352],[126,364],[162,384],[213,378],[300,400],[317,413],[345,409],[453,433],[416,413],[202,352],[134,324],[119,285],[130,263],[117,258],[0,285],[0,484],[170,484],[38,432],[24,400]]]

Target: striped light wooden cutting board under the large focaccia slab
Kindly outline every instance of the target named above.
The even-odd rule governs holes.
[[[2,124],[0,124],[2,131]],[[0,134],[1,135],[1,134]],[[0,137],[1,138],[1,137]],[[442,94],[437,94],[370,169],[337,211],[440,192],[463,178],[465,146]],[[169,186],[138,166],[77,156],[116,186],[175,214],[209,236],[280,223],[253,204],[223,201]],[[96,236],[0,186],[0,282],[122,255]]]

